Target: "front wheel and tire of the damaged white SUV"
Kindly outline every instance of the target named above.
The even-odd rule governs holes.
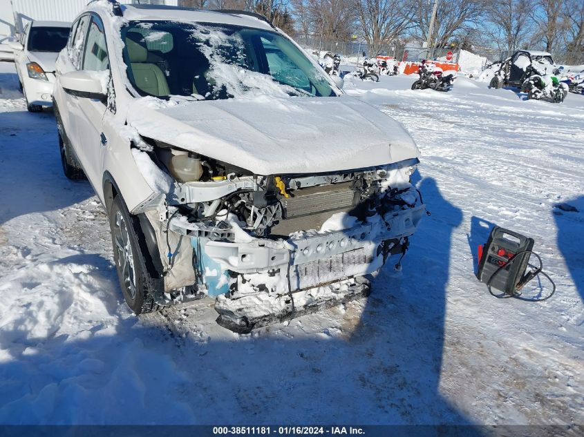
[[[126,304],[136,315],[158,311],[162,307],[154,302],[156,285],[143,262],[149,254],[140,252],[136,236],[140,223],[137,217],[128,212],[120,195],[113,199],[109,225],[117,279]]]

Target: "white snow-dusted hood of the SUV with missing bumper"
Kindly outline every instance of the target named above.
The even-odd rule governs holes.
[[[320,173],[417,157],[394,119],[353,97],[254,97],[163,106],[136,99],[128,123],[144,137],[258,175]]]

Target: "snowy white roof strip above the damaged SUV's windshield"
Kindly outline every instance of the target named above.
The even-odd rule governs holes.
[[[91,7],[90,7],[91,9]],[[199,23],[223,23],[234,26],[246,26],[252,28],[272,29],[269,23],[257,17],[236,12],[216,12],[212,10],[192,10],[185,8],[175,8],[171,6],[160,6],[157,8],[152,5],[148,8],[140,8],[130,5],[122,5],[124,19],[130,21],[149,21],[149,20],[174,20],[174,21],[191,21]]]

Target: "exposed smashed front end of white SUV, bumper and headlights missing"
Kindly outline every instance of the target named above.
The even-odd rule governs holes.
[[[314,175],[254,175],[144,139],[174,181],[134,212],[156,233],[169,305],[208,295],[240,333],[368,295],[390,255],[406,253],[425,207],[418,159]]]

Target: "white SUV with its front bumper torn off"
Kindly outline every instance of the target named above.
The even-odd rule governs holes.
[[[247,332],[366,295],[405,253],[418,150],[340,86],[256,14],[79,15],[57,61],[63,168],[109,214],[132,311],[211,296]]]

